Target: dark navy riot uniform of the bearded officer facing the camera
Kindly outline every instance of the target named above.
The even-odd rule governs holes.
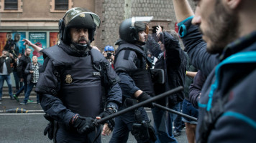
[[[70,142],[75,142],[75,139],[82,139],[92,142],[95,133],[78,134],[76,129],[70,127],[70,119],[75,114],[96,118],[103,112],[100,111],[101,86],[108,93],[106,105],[118,109],[122,103],[119,77],[104,56],[95,49],[81,56],[61,41],[58,46],[44,49],[42,53],[45,63],[35,91],[40,93],[42,109],[58,121],[60,127],[57,141],[68,142],[70,139]]]

